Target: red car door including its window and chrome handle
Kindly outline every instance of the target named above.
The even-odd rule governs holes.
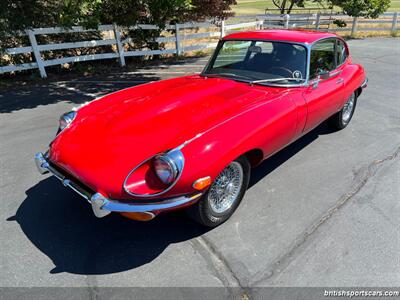
[[[343,102],[342,69],[338,66],[337,39],[316,42],[310,54],[310,86],[304,92],[307,122],[310,131],[336,113]]]

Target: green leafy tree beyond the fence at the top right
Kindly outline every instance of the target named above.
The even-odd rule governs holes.
[[[390,0],[330,0],[352,17],[377,18],[390,6]]]

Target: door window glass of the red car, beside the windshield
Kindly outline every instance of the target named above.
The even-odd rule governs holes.
[[[335,40],[317,42],[311,48],[310,79],[316,78],[321,72],[335,69]]]

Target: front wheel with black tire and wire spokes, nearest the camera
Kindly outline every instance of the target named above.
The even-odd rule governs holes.
[[[250,180],[250,163],[241,156],[215,178],[208,191],[188,208],[189,216],[207,227],[216,227],[235,212]]]

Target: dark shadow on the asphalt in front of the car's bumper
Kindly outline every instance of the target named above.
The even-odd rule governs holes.
[[[136,222],[118,214],[98,219],[89,204],[48,177],[26,191],[15,217],[29,240],[54,263],[50,273],[110,274],[151,262],[170,244],[207,229],[185,214]]]

